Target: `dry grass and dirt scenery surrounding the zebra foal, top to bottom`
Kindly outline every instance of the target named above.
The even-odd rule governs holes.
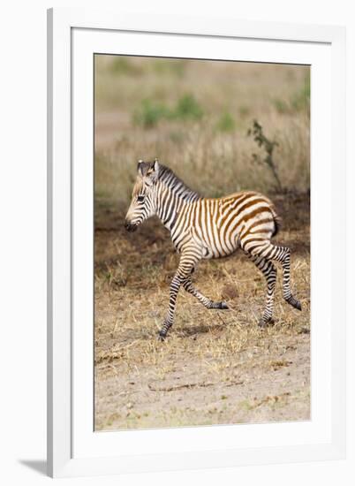
[[[309,419],[309,118],[295,102],[307,68],[126,61],[101,57],[95,65],[95,429]],[[150,128],[134,121],[142,100],[173,110],[185,93],[203,116],[162,117]],[[252,163],[253,118],[279,142],[287,194],[273,195],[268,171]],[[195,275],[230,310],[207,310],[182,291],[169,338],[157,341],[177,255],[155,219],[133,235],[123,228],[136,161],[153,156],[209,196],[271,194],[302,313],[283,301],[279,281],[276,324],[260,330],[265,283],[236,254],[201,262]]]

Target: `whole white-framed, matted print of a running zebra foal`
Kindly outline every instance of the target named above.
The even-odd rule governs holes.
[[[344,29],[48,19],[49,475],[344,457]]]

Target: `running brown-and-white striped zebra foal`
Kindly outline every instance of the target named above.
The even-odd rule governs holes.
[[[227,309],[197,290],[191,276],[202,259],[221,258],[240,247],[261,270],[267,281],[267,302],[259,321],[261,327],[272,322],[276,266],[283,267],[283,298],[301,310],[291,293],[290,248],[270,242],[278,231],[280,219],[271,201],[262,194],[242,191],[221,198],[204,198],[177,178],[173,171],[155,162],[138,163],[132,201],[125,216],[125,228],[134,231],[150,216],[158,216],[170,231],[180,254],[177,272],[170,283],[169,310],[159,336],[164,339],[173,324],[177,292],[182,286],[206,308]]]

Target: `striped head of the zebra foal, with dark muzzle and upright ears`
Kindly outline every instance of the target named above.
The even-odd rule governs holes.
[[[133,186],[131,205],[125,215],[125,229],[134,232],[148,217],[155,215],[155,183],[159,163],[139,161],[137,178]]]

